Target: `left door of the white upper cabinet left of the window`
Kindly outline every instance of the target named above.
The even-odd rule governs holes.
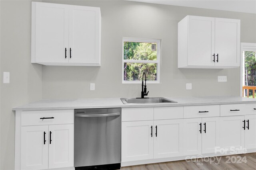
[[[68,63],[68,6],[38,2],[35,5],[35,62]]]

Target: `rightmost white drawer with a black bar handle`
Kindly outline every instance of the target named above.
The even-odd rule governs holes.
[[[220,105],[220,116],[246,115],[247,104]]]

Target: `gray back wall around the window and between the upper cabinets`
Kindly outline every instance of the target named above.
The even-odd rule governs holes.
[[[255,14],[129,1],[50,2],[100,7],[102,66],[43,66],[43,98],[140,96],[140,84],[122,84],[122,37],[162,39],[161,83],[148,84],[149,97],[240,95],[239,68],[177,68],[177,23],[186,15],[240,19],[241,42],[254,43]],[[218,83],[217,76],[227,76],[228,82]],[[90,82],[95,91],[90,91]],[[186,83],[192,83],[192,90],[186,90]]]

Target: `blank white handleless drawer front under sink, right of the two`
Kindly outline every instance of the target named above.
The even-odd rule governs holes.
[[[154,107],[154,120],[182,119],[183,106],[178,107]]]

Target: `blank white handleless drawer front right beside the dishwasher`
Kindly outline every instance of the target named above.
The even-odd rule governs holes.
[[[153,107],[122,108],[122,121],[153,120]]]

